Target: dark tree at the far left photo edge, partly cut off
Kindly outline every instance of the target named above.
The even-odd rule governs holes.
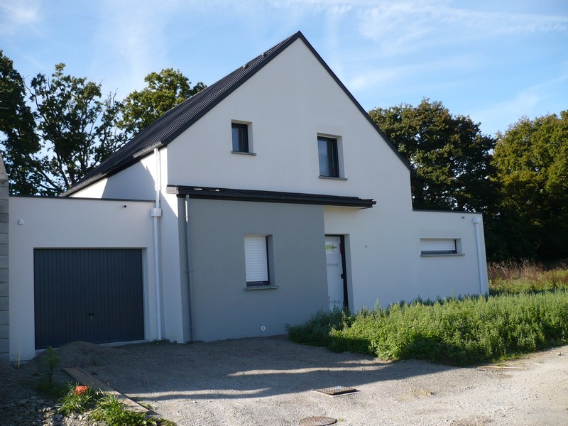
[[[32,194],[40,178],[33,154],[40,150],[26,85],[0,50],[0,145],[13,193]]]

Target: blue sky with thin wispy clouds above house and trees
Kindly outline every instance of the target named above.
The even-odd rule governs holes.
[[[173,67],[212,84],[296,31],[364,109],[441,101],[481,131],[568,109],[567,0],[1,0],[26,80],[68,73],[119,98]]]

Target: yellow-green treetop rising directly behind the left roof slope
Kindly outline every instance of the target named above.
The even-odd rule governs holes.
[[[124,99],[119,126],[129,134],[146,129],[160,116],[206,87],[202,82],[191,87],[190,80],[173,68],[151,72],[144,81],[148,84],[146,88],[140,92],[135,90]]]

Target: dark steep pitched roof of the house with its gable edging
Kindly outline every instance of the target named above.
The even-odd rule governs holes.
[[[320,61],[322,66],[329,72],[334,80],[344,90],[345,94],[351,99],[352,102],[359,108],[362,114],[366,116],[368,121],[375,127],[378,133],[385,139],[386,143],[398,155],[400,160],[410,169],[410,165],[406,162],[402,155],[393,146],[391,141],[385,134],[378,128],[376,123],[371,119],[366,111],[361,107],[359,102],[347,90],[344,84],[339,81],[337,75],[327,66],[322,57],[310,45],[310,42],[304,35],[298,31],[291,37],[283,40],[275,45],[273,48],[266,50],[265,53],[258,55],[253,60],[247,62],[245,65],[231,72],[231,74],[223,77],[218,82],[215,82],[209,87],[206,87],[201,92],[195,94],[187,101],[182,102],[178,106],[170,109],[170,111],[160,116],[159,119],[154,121],[150,126],[146,127],[143,131],[134,136],[128,143],[126,143],[119,151],[116,151],[107,160],[104,160],[97,168],[91,170],[79,182],[73,185],[63,196],[72,195],[75,192],[82,190],[84,187],[91,185],[98,180],[106,178],[109,175],[114,175],[125,168],[137,163],[141,158],[153,152],[154,148],[161,148],[167,146],[168,143],[173,141],[180,134],[187,130],[192,124],[199,120],[202,116],[207,114],[219,102],[225,99],[229,94],[234,92],[241,84],[249,80],[256,72],[260,71],[268,62],[271,62],[283,50],[288,48],[289,45],[300,39],[315,55],[317,60]]]

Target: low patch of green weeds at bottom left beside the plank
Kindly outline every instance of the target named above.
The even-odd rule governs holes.
[[[79,391],[70,384],[69,391],[58,402],[58,413],[69,416],[87,413],[92,420],[109,426],[173,426],[170,420],[148,417],[146,413],[128,410],[114,395],[94,392],[90,388]]]

